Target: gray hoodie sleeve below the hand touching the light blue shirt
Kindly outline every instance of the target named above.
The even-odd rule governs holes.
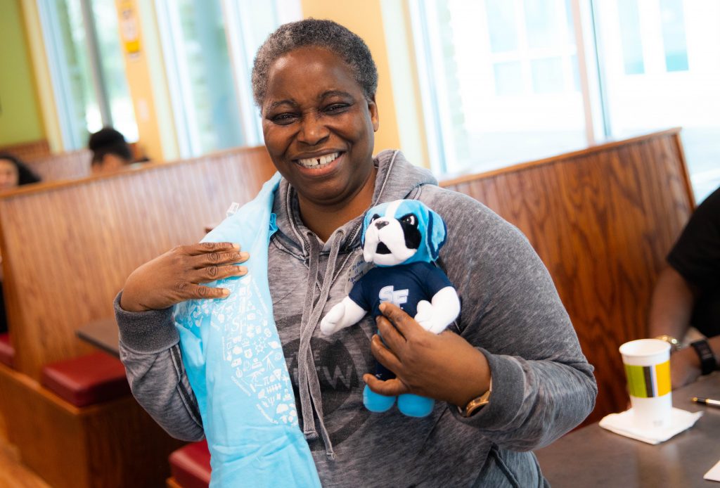
[[[201,440],[202,420],[182,363],[173,309],[127,312],[120,308],[121,296],[115,297],[115,319],[132,395],[174,438]]]

